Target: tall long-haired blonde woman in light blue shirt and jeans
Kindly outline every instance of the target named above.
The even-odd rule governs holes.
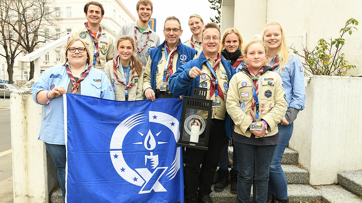
[[[268,47],[268,61],[272,70],[278,73],[283,81],[287,112],[278,124],[280,143],[278,144],[270,165],[268,186],[268,202],[289,202],[287,194],[287,178],[281,167],[285,147],[293,133],[293,121],[298,112],[304,109],[306,92],[304,89],[304,72],[302,64],[293,53],[289,52],[282,26],[270,22],[264,26],[262,40]]]

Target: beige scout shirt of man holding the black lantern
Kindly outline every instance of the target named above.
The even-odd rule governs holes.
[[[209,61],[210,65],[212,66],[214,64],[215,61],[211,61],[210,59],[207,59],[207,61]],[[203,76],[200,76],[200,87],[207,87],[208,91],[207,91],[207,95],[206,95],[206,99],[210,99],[210,100],[220,100],[220,107],[212,107],[212,117],[211,118],[217,118],[220,120],[225,120],[225,115],[226,115],[226,105],[225,105],[225,101],[223,100],[223,98],[220,96],[220,94],[224,94],[224,98],[226,99],[226,95],[227,95],[227,90],[225,89],[225,86],[228,86],[228,82],[227,82],[227,74],[226,74],[226,70],[224,68],[224,66],[221,64],[221,61],[219,63],[220,65],[218,66],[218,68],[216,68],[216,75],[218,77],[218,85],[221,87],[221,90],[223,92],[218,92],[218,98],[215,99],[215,94],[211,96],[210,98],[210,85],[211,85],[211,81],[209,76],[211,77],[211,71],[210,69],[207,67],[207,65],[205,63],[202,64],[202,72],[206,73],[207,75],[205,75],[205,79],[203,79]],[[224,85],[226,84],[226,85]]]

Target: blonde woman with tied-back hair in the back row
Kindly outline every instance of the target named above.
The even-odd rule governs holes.
[[[197,50],[197,57],[200,56],[202,52],[202,28],[205,25],[201,16],[198,14],[192,14],[189,18],[189,27],[191,30],[191,38],[184,42],[184,44],[188,47],[194,48]]]

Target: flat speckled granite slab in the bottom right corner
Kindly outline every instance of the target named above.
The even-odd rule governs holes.
[[[324,203],[362,203],[361,199],[355,198],[355,194],[340,185],[324,185],[317,186],[316,188],[319,194],[321,194]]]

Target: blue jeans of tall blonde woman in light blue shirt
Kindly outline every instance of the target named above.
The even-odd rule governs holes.
[[[273,159],[271,160],[269,173],[268,194],[275,194],[277,199],[288,199],[287,177],[281,167],[282,157],[290,137],[293,133],[293,123],[290,125],[278,124],[280,143],[275,149]]]

